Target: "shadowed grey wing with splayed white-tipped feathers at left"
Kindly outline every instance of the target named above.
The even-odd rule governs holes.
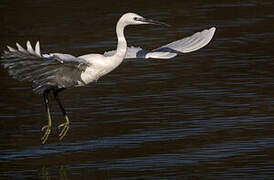
[[[34,92],[42,94],[51,87],[69,88],[84,84],[80,77],[89,66],[85,60],[60,53],[41,55],[39,42],[35,50],[29,41],[27,49],[16,45],[17,49],[8,46],[9,50],[4,51],[2,64],[13,78],[33,82]]]

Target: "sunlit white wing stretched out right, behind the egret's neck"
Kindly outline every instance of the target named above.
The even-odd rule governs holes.
[[[201,32],[197,32],[192,36],[174,41],[167,45],[161,46],[154,50],[144,50],[140,47],[128,47],[125,59],[170,59],[181,53],[188,53],[196,51],[204,46],[206,46],[212,39],[216,28],[212,27],[210,29],[205,29]],[[114,51],[105,52],[105,56],[111,56],[115,54]]]

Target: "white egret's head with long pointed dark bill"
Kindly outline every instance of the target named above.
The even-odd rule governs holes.
[[[155,21],[155,20],[152,20],[152,19],[147,19],[147,18],[144,18],[144,17],[142,17],[138,14],[135,14],[135,13],[126,13],[121,17],[121,20],[126,25],[155,24],[155,25],[169,26],[166,23]]]

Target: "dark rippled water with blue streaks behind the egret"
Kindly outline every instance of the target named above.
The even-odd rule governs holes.
[[[67,90],[65,139],[31,84],[0,69],[0,179],[273,179],[274,3],[271,1],[1,1],[0,50],[27,40],[44,53],[115,49],[125,12],[172,25],[129,27],[152,49],[211,26],[205,48],[172,60],[130,60]],[[52,105],[54,127],[63,122]]]

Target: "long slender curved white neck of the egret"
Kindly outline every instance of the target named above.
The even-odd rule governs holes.
[[[126,26],[125,23],[123,23],[121,19],[118,21],[116,25],[118,44],[117,44],[117,49],[114,56],[118,56],[119,58],[122,58],[121,61],[125,58],[127,53],[127,41],[124,36],[125,26]]]

